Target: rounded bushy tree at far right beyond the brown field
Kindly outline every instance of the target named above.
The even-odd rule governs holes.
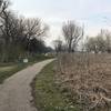
[[[101,30],[101,32],[93,38],[89,38],[85,43],[88,51],[98,52],[110,52],[111,51],[111,33],[107,30]]]

